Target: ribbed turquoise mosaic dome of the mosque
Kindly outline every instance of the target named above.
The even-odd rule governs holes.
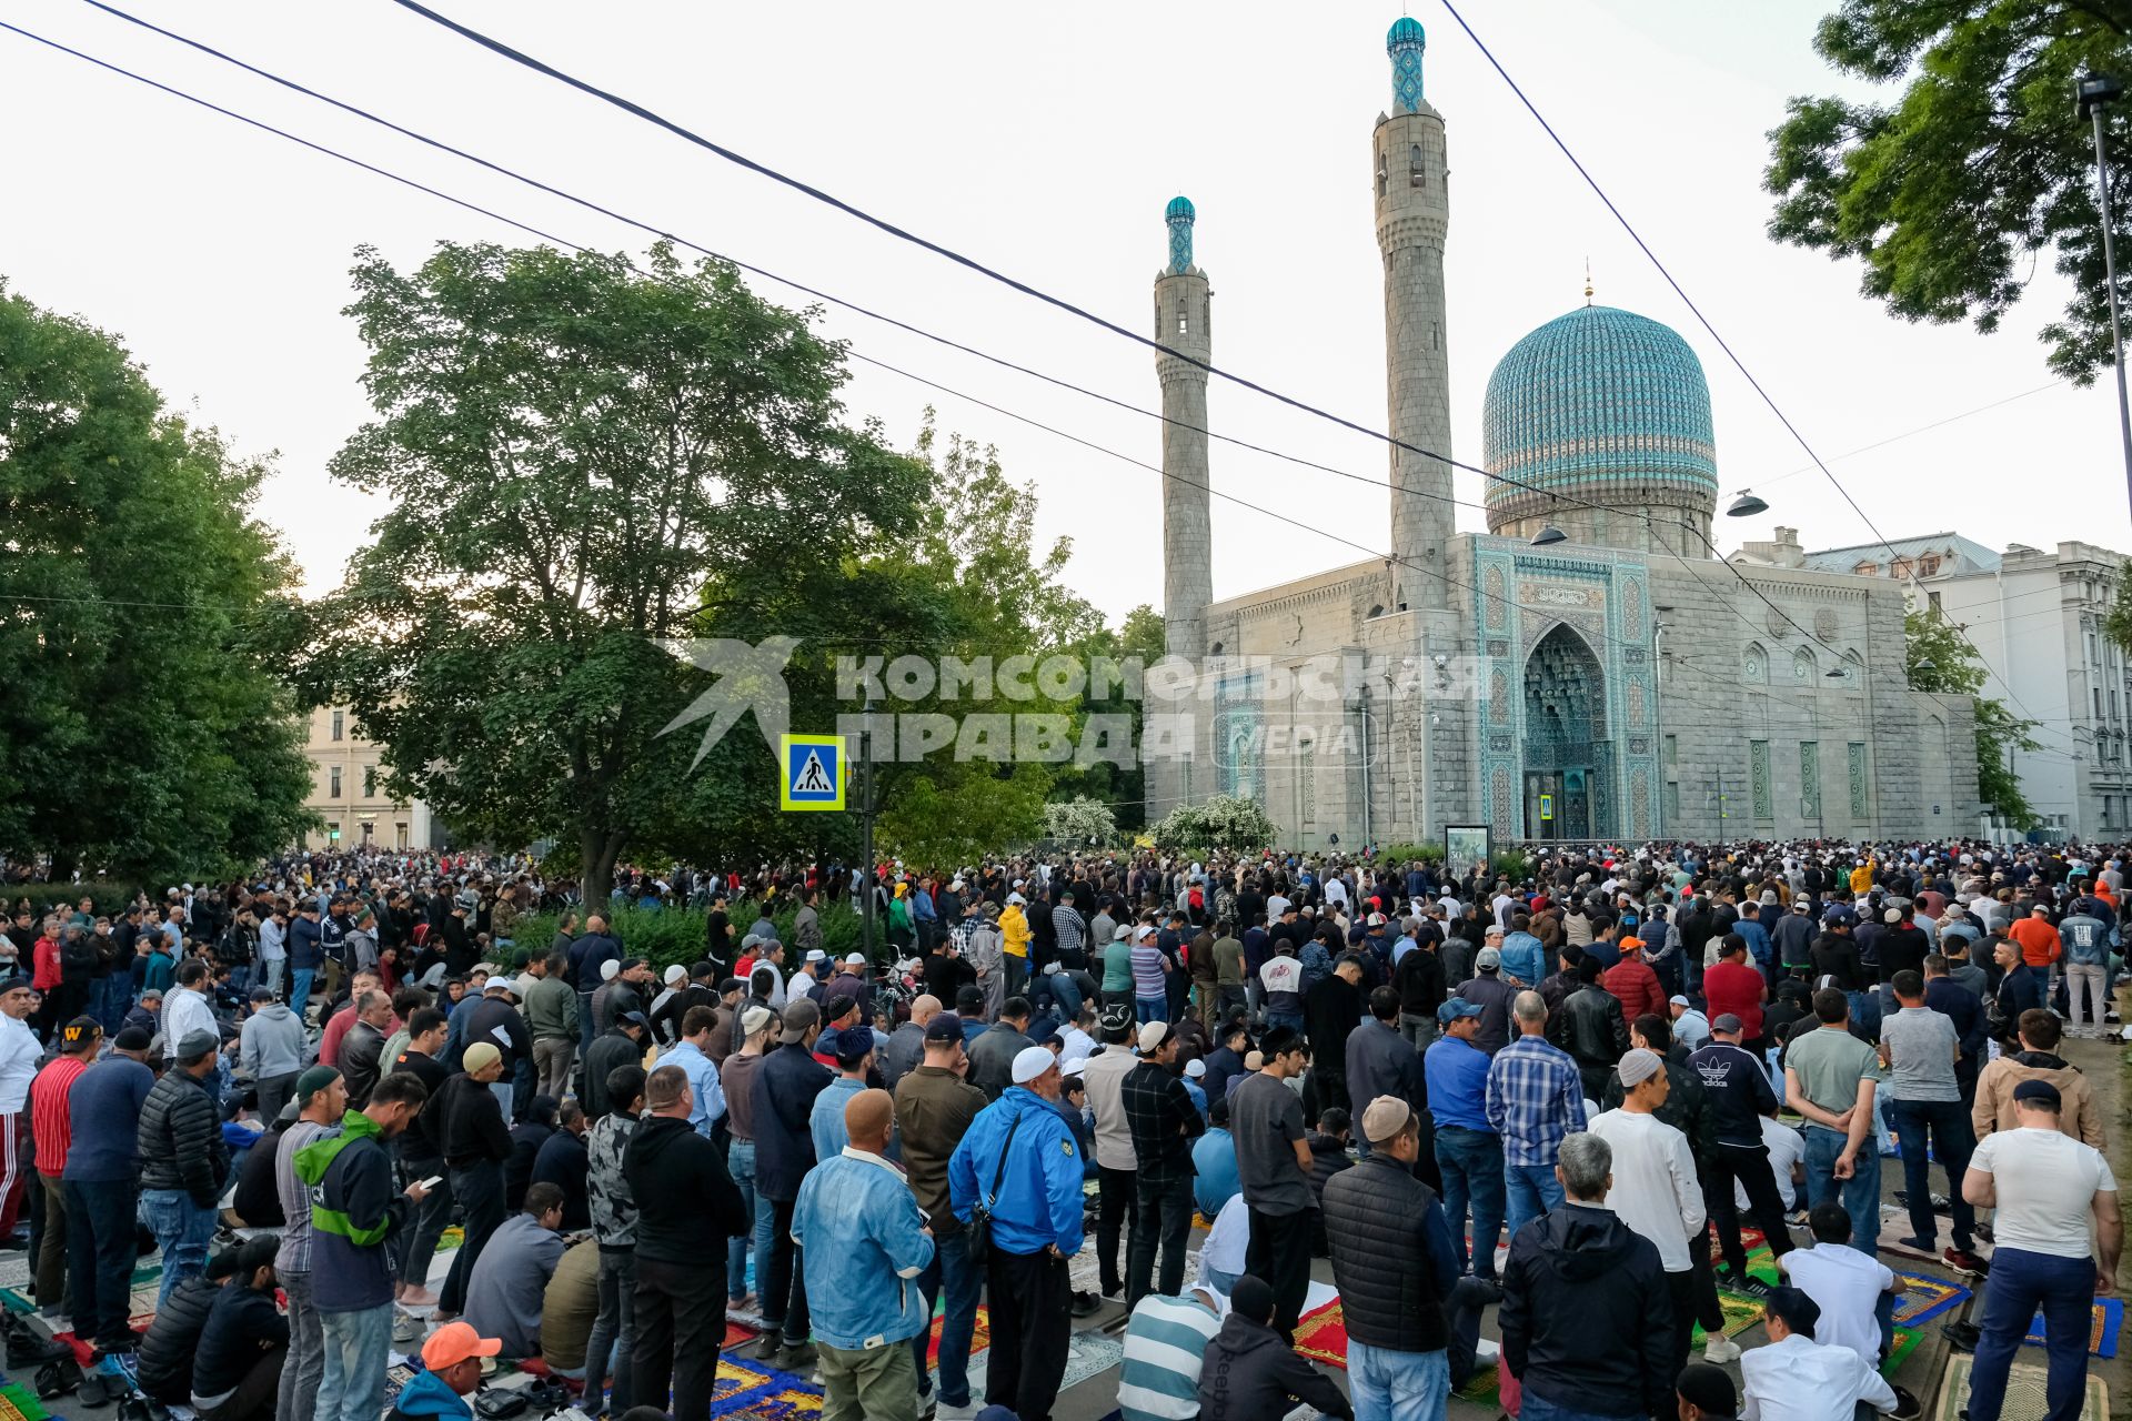
[[[1633,507],[1648,496],[1716,509],[1716,437],[1703,364],[1669,326],[1578,307],[1509,347],[1488,377],[1482,460],[1535,488]],[[1488,503],[1527,503],[1488,481]]]

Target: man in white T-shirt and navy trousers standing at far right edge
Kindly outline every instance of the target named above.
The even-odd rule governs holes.
[[[1991,1285],[1970,1366],[1970,1417],[1998,1421],[2006,1370],[2040,1308],[2051,1368],[2047,1415],[2064,1421],[2081,1415],[2091,1300],[2117,1291],[2117,1176],[2091,1146],[2060,1133],[2060,1097],[2049,1080],[2017,1084],[2013,1108],[2019,1125],[1985,1136],[1961,1178],[1970,1204],[1998,1210]]]

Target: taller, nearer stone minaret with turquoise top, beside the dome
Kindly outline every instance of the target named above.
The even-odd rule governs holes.
[[[1392,577],[1399,607],[1450,607],[1452,541],[1450,334],[1443,322],[1443,232],[1450,194],[1443,115],[1422,98],[1422,26],[1401,17],[1386,36],[1392,113],[1377,117],[1377,249],[1384,254],[1384,356],[1392,439]]]

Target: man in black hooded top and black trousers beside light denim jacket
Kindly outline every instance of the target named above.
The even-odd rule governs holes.
[[[814,1003],[804,1006],[812,1010]],[[672,1385],[674,1421],[708,1421],[725,1338],[725,1270],[704,1268],[704,1253],[706,1246],[723,1253],[725,1240],[748,1229],[748,1214],[718,1146],[689,1125],[695,1108],[689,1076],[661,1065],[646,1078],[644,1099],[650,1114],[629,1136],[623,1157],[623,1178],[637,1206],[637,1338],[629,1387],[633,1398],[665,1398]],[[791,1221],[789,1206],[782,1221]],[[776,1332],[765,1327],[763,1336]]]

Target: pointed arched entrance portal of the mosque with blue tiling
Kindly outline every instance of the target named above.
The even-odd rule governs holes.
[[[1614,746],[1599,658],[1556,624],[1524,663],[1524,833],[1590,839],[1614,831]]]

